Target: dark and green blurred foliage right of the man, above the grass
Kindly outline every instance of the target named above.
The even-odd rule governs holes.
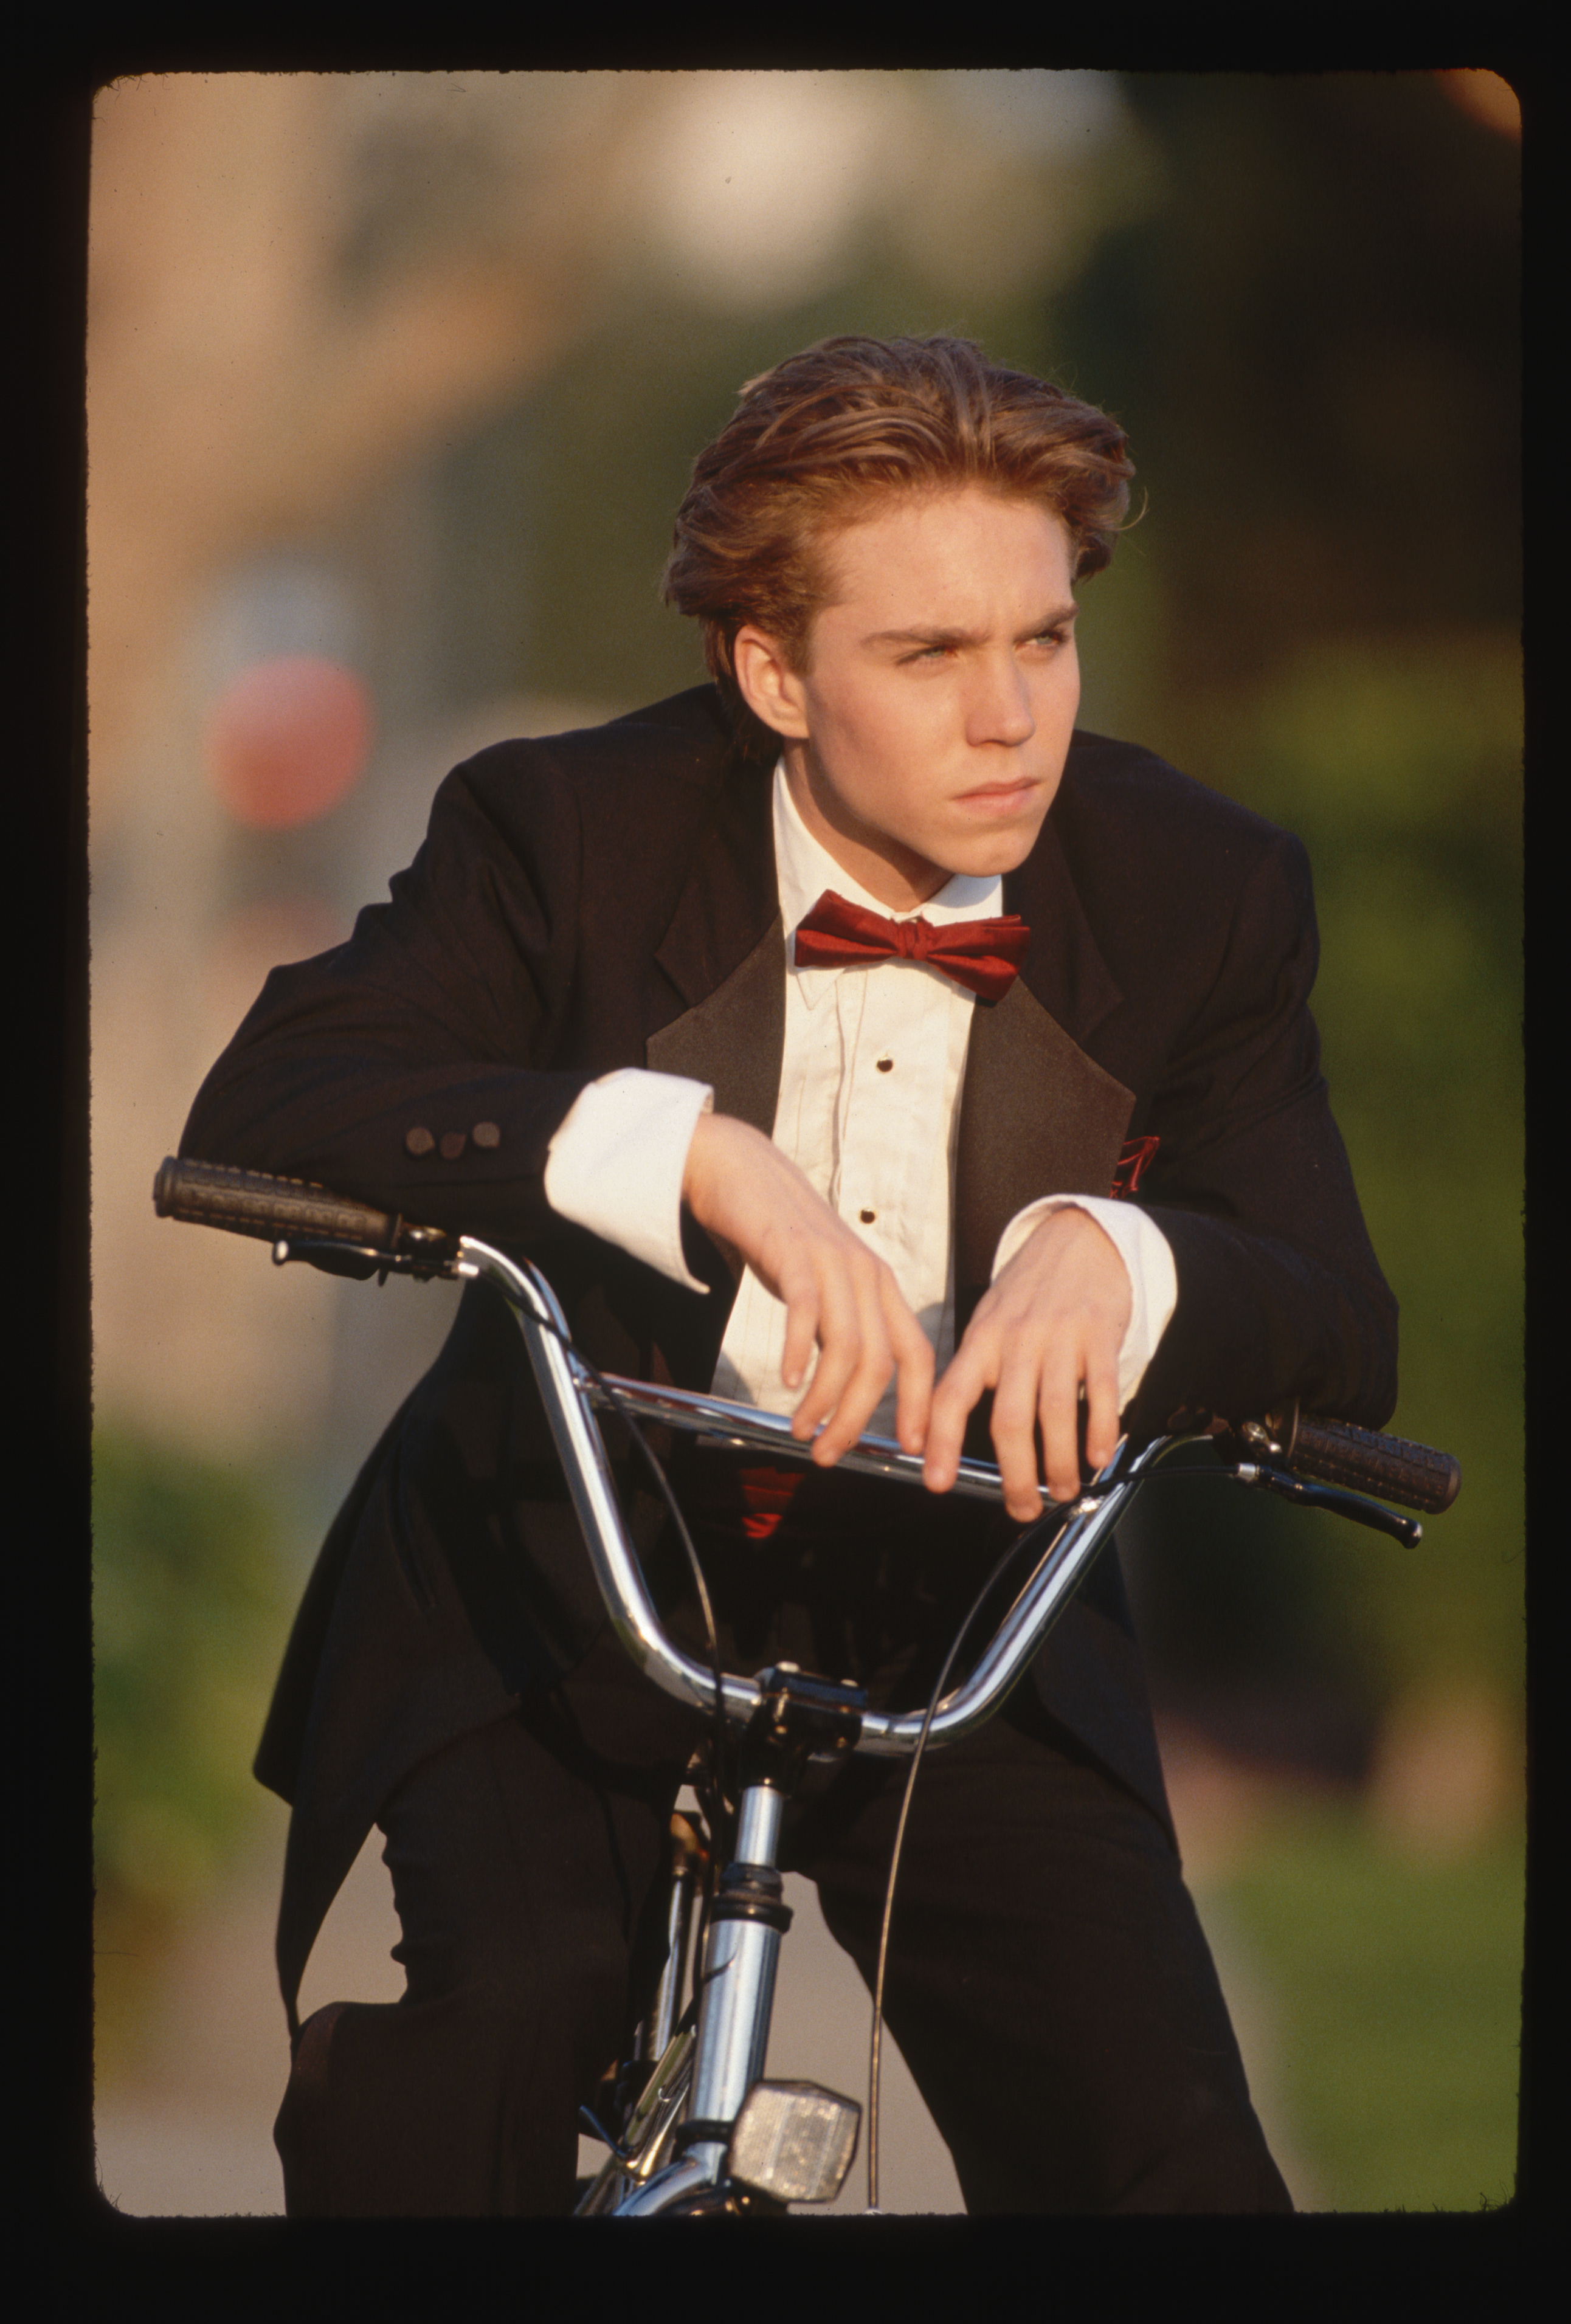
[[[1153,1497],[1148,1648],[1190,1701],[1320,1687],[1364,1729],[1459,1678],[1520,1701],[1520,153],[1432,74],[1122,86],[1164,195],[1050,318],[1148,495],[1085,593],[1085,723],[1306,841],[1392,1427],[1464,1478],[1415,1555]]]

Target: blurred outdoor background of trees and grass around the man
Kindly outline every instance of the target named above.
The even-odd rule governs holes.
[[[249,1764],[321,1532],[451,1313],[158,1222],[153,1171],[267,969],[386,895],[458,758],[702,676],[658,602],[690,460],[837,330],[960,330],[1118,414],[1143,516],[1085,588],[1083,725],[1308,844],[1325,1067],[1404,1315],[1392,1427],[1464,1492],[1404,1552],[1197,1483],[1125,1559],[1299,2203],[1511,2194],[1518,139],[1483,72],[100,93],[95,2124],[125,2210],[281,2208],[286,1810]],[[395,1994],[393,1938],[367,1850],[302,2006]],[[848,2054],[809,2064],[855,2092],[865,2006],[823,1964],[783,2040],[844,2010]],[[897,2208],[957,2208],[902,2119]]]

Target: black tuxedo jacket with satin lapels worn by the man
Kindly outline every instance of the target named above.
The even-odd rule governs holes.
[[[1394,1301],[1332,1122],[1308,1016],[1315,925],[1294,839],[1146,751],[1076,734],[1004,909],[1018,981],[978,1004],[955,1185],[957,1327],[1009,1218],[1106,1195],[1120,1148],[1178,1306],[1125,1415],[1232,1420],[1301,1397],[1380,1425]],[[769,765],[713,688],[458,767],[390,904],[277,969],[198,1095],[181,1153],[311,1178],[528,1250],[602,1369],[706,1387],[730,1276],[683,1290],[544,1202],[548,1141],[616,1067],[713,1083],[774,1127],[786,951]],[[655,1504],[627,1480],[634,1534]],[[428,1750],[504,1715],[602,1627],[511,1318],[469,1290],[339,1513],[300,1608],[258,1776],[295,1803],[279,1934],[293,1992],[379,1803]],[[1060,1622],[1048,1708],[1167,1813],[1116,1564]]]

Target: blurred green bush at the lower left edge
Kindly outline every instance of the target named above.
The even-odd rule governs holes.
[[[98,1429],[100,1924],[177,1913],[244,1841],[293,1585],[286,1525],[258,1476]]]

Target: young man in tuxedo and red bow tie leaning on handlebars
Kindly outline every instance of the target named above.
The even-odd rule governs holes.
[[[274,971],[198,1097],[186,1153],[525,1248],[604,1369],[795,1413],[811,1471],[676,1455],[732,1666],[920,1699],[1039,1478],[1078,1490],[1081,1429],[1097,1466],[1181,1406],[1394,1404],[1301,851],[1074,732],[1074,583],[1129,474],[1104,414],[967,342],[751,381],[667,569],[716,683],[460,767],[393,902]],[[837,1473],[869,1425],[925,1452],[916,1513]],[[1009,1515],[946,1494],[967,1429]],[[372,1822],[409,1980],[295,2029],[293,2212],[567,2208],[700,1729],[607,1636],[516,1332],[469,1292],[258,1757],[295,1810],[290,2027]],[[788,1827],[865,1973],[897,1789],[855,1764]],[[923,1776],[888,2017],[971,2210],[1287,2205],[1111,1557]]]

